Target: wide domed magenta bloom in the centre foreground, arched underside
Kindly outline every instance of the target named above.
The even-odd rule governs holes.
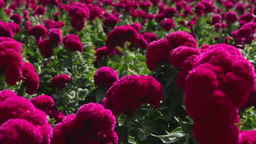
[[[102,105],[114,114],[130,115],[143,103],[159,107],[163,96],[162,86],[154,77],[129,75],[113,83]]]

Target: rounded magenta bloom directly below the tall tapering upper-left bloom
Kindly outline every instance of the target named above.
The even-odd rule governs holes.
[[[63,45],[68,51],[83,51],[83,44],[80,42],[79,37],[75,34],[68,34],[63,38]]]

